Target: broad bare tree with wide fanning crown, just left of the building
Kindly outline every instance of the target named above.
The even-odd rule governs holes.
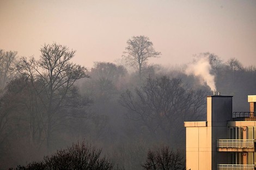
[[[123,93],[120,104],[128,109],[127,117],[147,127],[153,137],[163,135],[170,141],[181,134],[185,115],[199,115],[204,95],[183,85],[181,79],[149,78],[141,88]]]

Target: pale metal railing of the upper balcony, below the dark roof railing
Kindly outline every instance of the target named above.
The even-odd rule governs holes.
[[[254,148],[254,140],[220,139],[217,140],[218,148]]]

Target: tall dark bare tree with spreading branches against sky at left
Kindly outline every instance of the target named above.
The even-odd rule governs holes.
[[[50,148],[53,129],[59,119],[65,117],[60,110],[85,104],[75,95],[74,83],[88,75],[85,67],[70,62],[75,51],[69,51],[66,46],[53,43],[44,45],[40,51],[38,61],[34,57],[22,58],[18,70],[27,77],[43,106],[44,133],[47,147]]]

